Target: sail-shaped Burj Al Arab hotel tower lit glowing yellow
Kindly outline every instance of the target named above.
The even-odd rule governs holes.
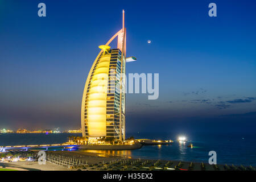
[[[109,44],[117,38],[117,48]],[[105,45],[93,62],[87,77],[81,106],[82,137],[113,137],[125,140],[125,11],[122,28]]]

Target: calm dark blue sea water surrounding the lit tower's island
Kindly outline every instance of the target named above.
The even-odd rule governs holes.
[[[0,134],[0,146],[22,144],[53,144],[67,142],[69,135],[81,134]],[[172,139],[177,134],[167,133],[130,133],[127,137]],[[217,152],[218,164],[243,164],[256,166],[256,134],[186,134],[188,140],[197,148],[188,148],[190,142],[171,145],[143,146],[131,151],[90,151],[103,155],[119,155],[143,159],[183,160],[191,162],[208,162],[209,151]],[[85,150],[86,151],[86,150]],[[88,151],[88,150],[87,150]]]

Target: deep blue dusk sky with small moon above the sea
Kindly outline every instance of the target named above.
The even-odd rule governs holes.
[[[211,2],[217,17],[208,16]],[[86,77],[98,46],[122,28],[122,9],[127,56],[138,59],[126,73],[159,73],[158,100],[126,95],[128,132],[255,132],[249,0],[0,0],[0,128],[79,129]]]

